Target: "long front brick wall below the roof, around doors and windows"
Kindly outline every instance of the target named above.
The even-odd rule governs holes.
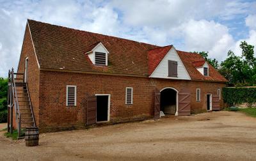
[[[77,106],[66,107],[66,86],[77,86]],[[192,112],[206,111],[206,93],[217,94],[225,84],[199,81],[172,81],[143,77],[92,75],[85,73],[40,71],[41,132],[83,128],[86,125],[86,98],[110,94],[110,121],[120,122],[148,118],[154,112],[154,88],[188,88]],[[133,104],[125,105],[125,88],[133,88]],[[201,101],[196,102],[196,88],[201,88]],[[221,103],[222,104],[222,103]]]

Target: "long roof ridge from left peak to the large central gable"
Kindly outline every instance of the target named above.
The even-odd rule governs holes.
[[[111,38],[118,38],[118,39],[122,39],[122,40],[128,40],[128,41],[131,41],[131,42],[136,42],[136,43],[144,43],[145,45],[157,46],[157,45],[153,45],[153,44],[151,44],[151,43],[138,42],[138,41],[135,41],[135,40],[130,40],[130,39],[127,39],[127,38],[120,38],[120,37],[111,36],[111,35],[108,35],[108,34],[93,33],[93,32],[91,32],[91,31],[84,31],[84,30],[81,30],[81,29],[74,29],[74,28],[71,28],[71,27],[65,27],[65,26],[60,26],[60,25],[56,25],[56,24],[50,24],[50,23],[41,22],[41,21],[38,21],[38,20],[28,19],[28,23],[29,23],[29,21],[39,22],[39,23],[42,23],[42,24],[48,24],[48,25],[56,26],[56,27],[62,27],[62,28],[71,29],[71,30],[74,30],[74,31],[81,31],[81,32],[86,32],[86,33],[99,34],[99,35],[102,35],[102,36],[109,36],[109,37],[111,37]]]

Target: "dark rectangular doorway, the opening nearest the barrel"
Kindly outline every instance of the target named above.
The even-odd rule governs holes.
[[[109,104],[110,104],[110,95],[96,95],[97,97],[97,109],[96,109],[96,121],[106,122],[109,121]]]

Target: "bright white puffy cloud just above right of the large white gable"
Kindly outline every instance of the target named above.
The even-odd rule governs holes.
[[[178,31],[173,31],[178,32]],[[214,21],[189,20],[179,28],[188,51],[209,51],[210,57],[223,60],[234,40],[228,27]]]

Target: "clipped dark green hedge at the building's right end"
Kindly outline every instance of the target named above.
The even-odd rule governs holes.
[[[256,103],[256,87],[223,88],[223,100],[228,106]]]

